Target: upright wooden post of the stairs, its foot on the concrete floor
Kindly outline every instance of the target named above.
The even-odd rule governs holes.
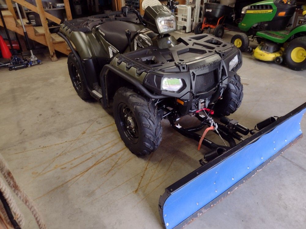
[[[15,0],[14,0],[15,1]],[[41,20],[41,24],[43,25],[43,29],[45,31],[45,36],[46,36],[46,42],[49,48],[49,52],[50,52],[50,58],[52,61],[57,61],[57,57],[55,55],[55,50],[54,50],[54,45],[52,42],[52,38],[50,35],[50,31],[48,28],[48,22],[45,16],[45,11],[43,10],[43,3],[41,2],[41,0],[35,0],[36,2],[36,6],[37,6],[37,11]]]

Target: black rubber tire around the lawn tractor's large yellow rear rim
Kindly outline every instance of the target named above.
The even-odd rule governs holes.
[[[290,69],[294,71],[306,70],[306,58],[302,62],[296,62],[292,59],[291,54],[296,48],[306,50],[306,37],[295,38],[286,45],[285,51],[283,53],[284,62]]]

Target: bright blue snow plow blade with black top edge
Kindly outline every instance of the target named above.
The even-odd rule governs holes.
[[[159,214],[165,228],[182,228],[217,204],[302,136],[306,103],[165,189]]]

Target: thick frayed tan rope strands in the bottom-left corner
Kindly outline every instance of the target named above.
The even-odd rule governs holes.
[[[6,180],[8,186],[13,190],[13,192],[17,195],[17,197],[28,207],[28,209],[31,211],[32,215],[34,216],[36,223],[39,227],[39,229],[46,229],[46,224],[43,222],[42,217],[40,216],[36,206],[32,202],[32,200],[28,197],[27,194],[24,193],[24,191],[19,187],[17,184],[15,178],[13,177],[13,174],[11,171],[7,168],[6,163],[4,162],[4,159],[2,158],[2,155],[0,154],[0,172],[4,179]],[[10,190],[6,187],[5,182],[0,177],[0,191],[3,194],[3,197],[6,199],[11,211],[15,214],[14,219],[17,221],[17,223],[23,227],[24,220],[23,217],[15,203],[15,200],[12,197],[12,194]],[[3,213],[3,215],[6,215],[6,212]],[[7,218],[6,218],[7,219]]]

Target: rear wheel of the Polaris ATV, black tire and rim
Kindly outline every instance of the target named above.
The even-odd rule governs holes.
[[[79,63],[77,62],[73,53],[69,53],[67,65],[72,85],[78,96],[80,96],[82,100],[92,100],[93,98],[91,97],[86,87],[86,76],[82,74]]]

